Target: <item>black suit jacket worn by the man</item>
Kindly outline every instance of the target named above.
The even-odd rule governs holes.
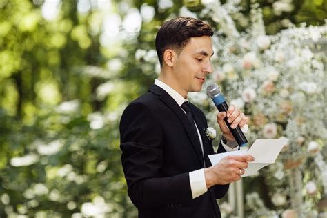
[[[204,113],[190,103],[201,133],[204,157],[197,134],[176,101],[159,86],[132,101],[120,123],[121,161],[128,195],[139,217],[221,217],[217,205],[228,185],[212,186],[192,199],[189,172],[211,166],[212,142],[204,133]],[[219,146],[218,152],[226,152]]]

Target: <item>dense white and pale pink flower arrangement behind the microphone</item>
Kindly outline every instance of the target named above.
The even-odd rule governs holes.
[[[285,169],[292,171],[298,168],[306,181],[317,181],[315,188],[312,184],[306,187],[308,194],[315,189],[322,192],[321,187],[327,190],[327,164],[321,155],[327,140],[327,129],[321,117],[324,108],[327,108],[324,97],[326,69],[324,57],[321,57],[324,54],[314,53],[310,48],[310,44],[326,37],[326,25],[293,26],[275,36],[268,36],[264,31],[261,11],[253,7],[250,28],[247,32],[239,33],[229,15],[237,12],[238,4],[236,1],[228,2],[235,4],[229,3],[227,7],[227,3],[221,5],[219,1],[212,1],[205,5],[201,14],[203,17],[212,17],[212,21],[219,24],[216,32],[218,37],[212,37],[215,54],[219,58],[215,59],[216,55],[212,57],[215,71],[208,83],[218,83],[226,100],[237,104],[250,119],[250,131],[246,135],[249,143],[257,138],[290,139],[275,163],[281,166],[281,170],[260,171],[266,173],[264,177],[279,178],[288,184],[294,175]],[[205,114],[209,125],[214,125],[216,113],[212,112],[215,108],[210,99],[194,97],[192,101],[201,106],[212,106]],[[306,161],[308,157],[315,158],[316,170],[313,171],[312,164]],[[281,181],[277,183],[279,185],[271,184],[271,191],[283,191],[283,195],[290,197],[291,202],[297,202],[292,192],[301,192],[304,181],[297,184],[300,186],[294,190],[282,186]],[[260,201],[259,195],[252,194],[257,204],[247,207],[253,217],[272,212]],[[262,194],[273,196],[274,192]],[[303,198],[303,204],[309,205],[308,202],[312,200]],[[288,204],[284,204],[284,197],[275,195],[274,201],[275,206],[281,208],[279,216],[297,216],[297,208],[287,210]],[[310,206],[310,210],[316,209]]]

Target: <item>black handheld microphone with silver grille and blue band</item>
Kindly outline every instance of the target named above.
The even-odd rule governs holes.
[[[212,99],[213,103],[215,103],[215,106],[217,107],[219,112],[224,111],[227,113],[228,105],[224,99],[224,96],[221,94],[220,87],[217,84],[213,83],[207,87],[207,95]],[[224,121],[228,126],[230,132],[232,132],[232,136],[235,138],[239,146],[246,146],[248,140],[244,136],[244,133],[241,131],[241,128],[239,128],[239,126],[234,129],[231,128],[230,123],[228,123],[227,119],[228,117],[226,116],[224,118]]]

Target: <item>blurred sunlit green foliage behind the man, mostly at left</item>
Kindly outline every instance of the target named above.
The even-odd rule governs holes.
[[[121,169],[119,118],[157,77],[146,65],[153,57],[135,52],[153,49],[157,28],[181,7],[203,8],[200,1],[162,2],[0,0],[0,217],[100,210],[135,216]],[[268,34],[290,22],[319,26],[327,17],[325,0],[279,1],[288,4],[284,10],[271,0],[242,0],[233,15],[239,30],[255,2]],[[144,6],[153,18],[127,31],[133,8]],[[116,37],[110,16],[122,21]]]

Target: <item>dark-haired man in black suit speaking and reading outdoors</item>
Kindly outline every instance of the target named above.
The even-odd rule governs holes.
[[[204,133],[206,117],[184,103],[212,72],[212,34],[208,24],[189,17],[164,23],[156,37],[159,78],[121,117],[123,171],[139,217],[221,217],[216,199],[253,160],[229,156],[211,166],[208,155],[215,152]],[[224,117],[226,112],[217,115],[224,137],[218,152],[238,149]],[[234,106],[227,117],[234,128],[248,122]]]

